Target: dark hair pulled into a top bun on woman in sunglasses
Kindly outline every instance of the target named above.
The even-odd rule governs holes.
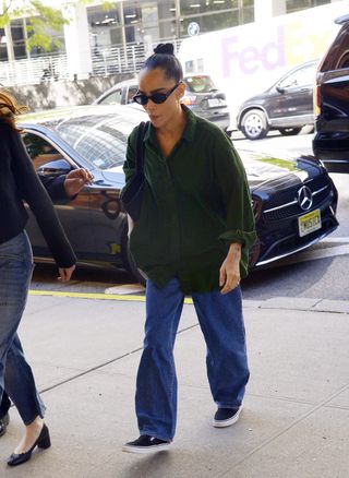
[[[183,79],[183,70],[179,59],[174,56],[172,44],[159,44],[154,48],[154,53],[147,58],[142,69],[155,70],[160,68],[167,79],[173,79],[179,83]]]

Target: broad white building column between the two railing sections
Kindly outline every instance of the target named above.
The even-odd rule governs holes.
[[[64,19],[64,40],[70,79],[84,80],[92,73],[92,56],[87,22],[87,9],[82,3],[62,5]]]

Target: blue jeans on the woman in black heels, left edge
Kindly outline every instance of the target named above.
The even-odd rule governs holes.
[[[5,390],[25,425],[45,413],[16,333],[32,272],[32,248],[24,231],[0,244],[0,401]]]

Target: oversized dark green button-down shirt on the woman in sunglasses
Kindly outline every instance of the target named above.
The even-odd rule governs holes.
[[[145,134],[146,187],[130,248],[157,286],[178,277],[190,294],[219,288],[219,268],[232,242],[242,243],[240,273],[245,277],[256,235],[245,171],[231,141],[183,109],[186,127],[168,157],[153,126]],[[134,175],[136,131],[130,134],[123,166],[127,183]]]

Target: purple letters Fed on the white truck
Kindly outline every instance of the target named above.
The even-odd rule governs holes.
[[[225,76],[230,76],[231,62],[238,60],[240,70],[244,74],[253,74],[261,67],[265,70],[282,67],[285,60],[284,26],[277,28],[276,41],[268,41],[261,48],[249,45],[244,48],[232,50],[231,46],[238,46],[239,37],[222,38],[222,70]]]

